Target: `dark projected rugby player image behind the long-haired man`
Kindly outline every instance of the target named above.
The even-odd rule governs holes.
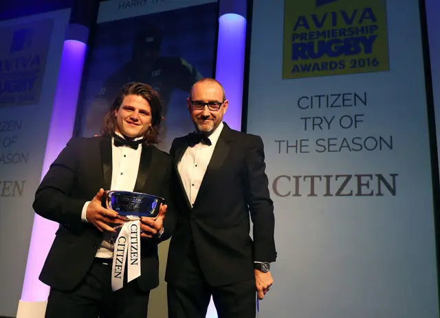
[[[87,105],[84,136],[99,134],[102,118],[120,87],[129,82],[142,82],[151,85],[162,100],[165,120],[162,122],[160,138],[166,138],[166,114],[168,104],[175,89],[190,91],[201,74],[195,67],[179,56],[161,56],[162,32],[156,25],[142,25],[137,30],[132,47],[131,60],[113,72],[103,83],[99,94]]]

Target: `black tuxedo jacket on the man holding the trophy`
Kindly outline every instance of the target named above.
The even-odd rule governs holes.
[[[81,221],[85,202],[100,188],[110,190],[111,138],[72,138],[36,190],[34,210],[60,227],[41,271],[41,282],[60,290],[72,290],[86,275],[102,242],[102,232]],[[134,191],[169,198],[172,161],[168,153],[143,145]],[[166,202],[168,204],[168,202]],[[168,205],[167,216],[172,210]],[[170,233],[164,233],[166,240]],[[142,239],[142,290],[159,284],[157,240]]]

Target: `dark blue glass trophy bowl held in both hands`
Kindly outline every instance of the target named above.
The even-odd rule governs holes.
[[[129,216],[155,218],[163,202],[164,198],[156,195],[130,191],[105,191],[101,198],[104,208],[118,212],[118,218],[125,221]]]

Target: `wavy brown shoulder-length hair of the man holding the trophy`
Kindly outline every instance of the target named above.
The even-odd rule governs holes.
[[[137,95],[146,100],[151,107],[151,127],[144,134],[144,139],[148,144],[159,143],[159,127],[162,120],[162,102],[159,94],[148,84],[135,82],[128,83],[120,89],[120,93],[111,103],[109,112],[104,116],[104,124],[100,130],[102,136],[113,136],[116,129],[116,116],[122,105],[125,96]]]

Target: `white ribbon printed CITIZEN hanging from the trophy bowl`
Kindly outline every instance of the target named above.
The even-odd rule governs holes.
[[[127,266],[127,283],[140,277],[140,219],[129,216],[122,226],[113,251],[111,266],[111,288],[113,291],[124,286],[125,266]]]

